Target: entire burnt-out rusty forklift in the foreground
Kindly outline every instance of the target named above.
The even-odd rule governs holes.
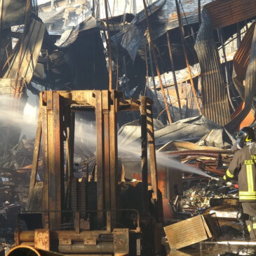
[[[40,93],[29,211],[18,217],[27,230],[18,227],[16,245],[67,255],[159,255],[163,211],[151,104],[147,97],[123,100],[116,90]],[[78,111],[95,112],[97,166],[90,180],[74,177],[74,116]],[[120,179],[116,114],[121,111],[140,111],[141,182]],[[130,193],[136,200],[126,204],[123,198],[127,200]]]

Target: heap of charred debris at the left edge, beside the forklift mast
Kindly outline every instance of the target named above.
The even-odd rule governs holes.
[[[0,243],[13,243],[17,215],[27,208],[33,151],[24,136],[0,159]]]

